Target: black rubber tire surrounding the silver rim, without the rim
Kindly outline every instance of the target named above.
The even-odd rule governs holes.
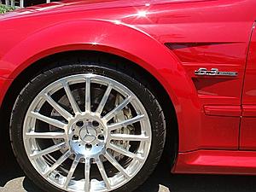
[[[61,63],[61,61],[56,63]],[[67,63],[67,61],[64,63]],[[73,63],[71,62],[61,67],[51,67],[50,69],[39,73],[37,77],[26,84],[26,87],[17,97],[10,119],[10,140],[16,159],[26,173],[26,176],[28,176],[33,183],[36,183],[39,188],[44,191],[63,191],[61,189],[57,189],[53,184],[44,180],[44,177],[40,176],[32,166],[30,160],[27,158],[22,136],[23,121],[26,116],[26,111],[34,97],[37,96],[45,86],[54,82],[56,79],[61,79],[78,73],[100,74],[114,79],[121,84],[125,84],[126,87],[135,93],[143,103],[144,108],[146,108],[151,123],[152,143],[147,161],[140,172],[138,172],[129,183],[126,183],[121,188],[114,190],[116,192],[133,191],[134,189],[137,189],[137,187],[141,185],[154,171],[165,145],[166,125],[164,113],[162,112],[160,104],[144,84],[141,84],[138,80],[131,77],[131,74],[134,74],[134,72],[128,70],[124,73],[122,72],[123,70],[118,67],[113,68],[102,63],[89,63],[85,61],[83,63],[76,62],[76,64],[72,64]]]

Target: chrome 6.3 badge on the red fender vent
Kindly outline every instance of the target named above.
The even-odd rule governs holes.
[[[207,68],[199,68],[195,71],[195,75],[200,76],[231,76],[236,77],[238,75],[237,72],[219,72],[218,68],[212,68],[211,70],[207,70]]]

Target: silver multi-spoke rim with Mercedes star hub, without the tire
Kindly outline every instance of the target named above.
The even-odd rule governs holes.
[[[142,169],[151,125],[142,102],[124,84],[92,73],[42,88],[26,112],[28,159],[66,191],[111,191]]]

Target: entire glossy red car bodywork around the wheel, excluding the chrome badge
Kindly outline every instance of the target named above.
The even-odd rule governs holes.
[[[256,174],[248,165],[254,152],[240,151],[256,149],[255,7],[254,0],[66,1],[0,16],[0,103],[11,82],[45,56],[119,55],[151,73],[172,100],[173,172]],[[238,76],[196,76],[201,67]]]

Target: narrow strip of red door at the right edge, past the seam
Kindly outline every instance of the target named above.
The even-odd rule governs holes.
[[[242,97],[242,120],[240,148],[256,150],[256,31],[253,35],[247,57],[247,69]]]

